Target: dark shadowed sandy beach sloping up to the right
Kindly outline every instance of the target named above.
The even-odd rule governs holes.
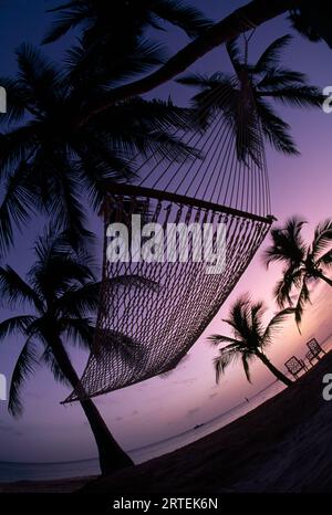
[[[110,477],[0,485],[0,492],[332,492],[329,353],[297,383],[229,425]]]

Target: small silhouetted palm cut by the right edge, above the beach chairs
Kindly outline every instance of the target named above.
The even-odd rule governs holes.
[[[313,241],[305,243],[301,234],[307,222],[292,217],[283,227],[271,230],[272,243],[264,251],[263,260],[269,266],[272,262],[283,263],[282,277],[274,288],[277,303],[283,307],[292,305],[292,291],[299,291],[295,304],[295,319],[301,322],[304,304],[310,301],[309,283],[324,281],[332,286],[325,271],[332,265],[332,220],[328,219],[315,227]]]

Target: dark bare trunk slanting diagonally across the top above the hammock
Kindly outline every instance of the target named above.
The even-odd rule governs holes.
[[[237,9],[227,18],[212,25],[156,72],[139,81],[114,88],[107,94],[106,99],[94,106],[89,106],[86,112],[83,113],[82,118],[77,120],[77,125],[85,125],[92,116],[105,111],[116,102],[142,95],[160,86],[165,82],[176,77],[179,73],[183,73],[216,46],[237,38],[255,27],[259,27],[290,9],[299,7],[300,3],[301,0],[252,0],[247,6]]]

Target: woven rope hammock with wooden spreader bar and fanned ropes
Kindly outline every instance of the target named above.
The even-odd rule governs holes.
[[[237,105],[231,104],[235,87]],[[217,314],[272,223],[261,127],[246,81],[211,88],[190,127],[176,136],[191,151],[184,157],[180,148],[169,147],[169,153],[147,157],[139,185],[116,185],[107,195],[94,345],[81,383],[65,402],[175,368]],[[131,227],[133,214],[158,223],[163,234],[169,223],[209,223],[215,242],[224,224],[222,272],[209,274],[204,260],[190,259],[197,249],[194,237],[188,238],[186,262],[108,261],[108,224]],[[177,240],[177,250],[180,244]]]

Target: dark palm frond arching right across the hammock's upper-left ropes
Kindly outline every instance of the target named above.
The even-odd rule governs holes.
[[[87,148],[90,153],[95,149],[100,160],[111,168],[116,166],[115,156],[131,159],[137,157],[137,153],[169,160],[196,158],[199,153],[174,134],[177,129],[188,128],[191,117],[191,109],[177,107],[172,99],[147,102],[133,98],[94,119],[89,129],[90,137],[86,138]],[[135,168],[134,161],[132,168]],[[115,168],[115,171],[133,176],[135,170]]]

